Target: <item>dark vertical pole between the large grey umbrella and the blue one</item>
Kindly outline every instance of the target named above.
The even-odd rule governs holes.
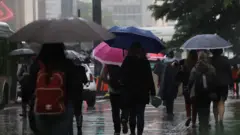
[[[102,24],[102,5],[101,5],[101,0],[92,0],[92,16],[93,16],[93,21],[98,24]],[[99,44],[100,42],[94,42],[94,48]],[[100,75],[102,68],[102,64],[99,63],[98,61],[94,62],[94,74],[95,76]]]

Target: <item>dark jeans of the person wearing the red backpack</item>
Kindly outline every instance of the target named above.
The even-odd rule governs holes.
[[[36,125],[40,135],[68,135],[73,122],[73,105],[68,104],[62,115],[36,115]]]

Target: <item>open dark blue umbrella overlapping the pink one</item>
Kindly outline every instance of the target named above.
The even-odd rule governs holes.
[[[148,30],[114,26],[109,31],[116,35],[114,39],[105,41],[111,47],[128,49],[133,42],[139,42],[148,53],[159,53],[165,49],[163,42]]]

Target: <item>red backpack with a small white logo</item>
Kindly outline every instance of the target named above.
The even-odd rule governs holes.
[[[35,90],[35,113],[40,115],[62,114],[65,112],[64,73],[53,72],[48,83],[47,75],[45,66],[40,64]]]

